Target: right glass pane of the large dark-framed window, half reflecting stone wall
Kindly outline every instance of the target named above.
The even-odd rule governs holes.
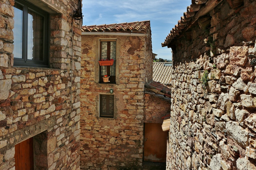
[[[44,61],[44,17],[28,10],[28,56],[29,60]]]

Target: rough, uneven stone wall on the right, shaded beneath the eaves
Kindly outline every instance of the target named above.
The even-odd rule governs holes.
[[[210,16],[173,48],[167,169],[256,169],[255,1]]]

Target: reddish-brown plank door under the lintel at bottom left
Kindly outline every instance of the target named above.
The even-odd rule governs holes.
[[[15,170],[33,170],[33,138],[15,145]]]

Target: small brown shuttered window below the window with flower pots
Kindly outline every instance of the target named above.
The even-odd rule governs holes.
[[[100,95],[100,117],[114,117],[114,95]]]

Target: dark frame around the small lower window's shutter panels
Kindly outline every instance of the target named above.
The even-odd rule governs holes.
[[[102,97],[106,97],[106,114],[102,114]],[[113,113],[110,113],[110,96],[113,97]],[[100,117],[105,117],[105,118],[114,118],[114,103],[115,103],[115,98],[114,95],[105,95],[105,94],[100,94]]]

